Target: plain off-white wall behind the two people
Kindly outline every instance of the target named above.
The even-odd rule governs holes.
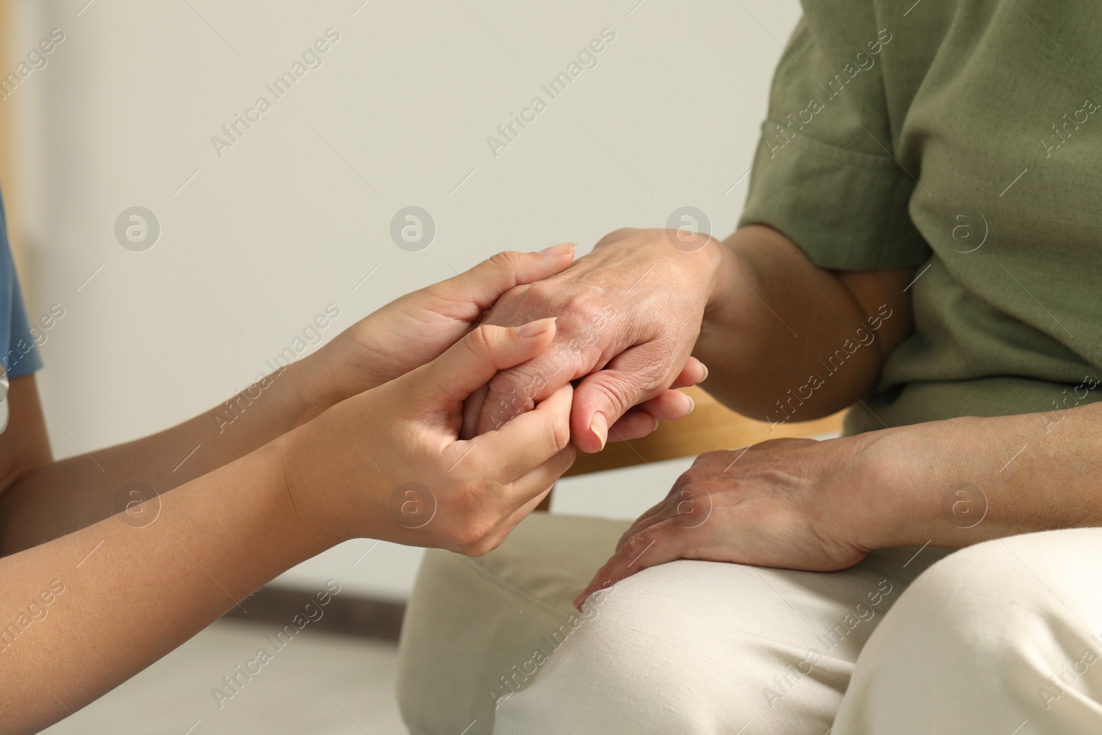
[[[2,73],[51,29],[66,35],[0,101],[28,310],[65,309],[39,377],[57,456],[209,409],[329,303],[342,314],[326,339],[497,250],[585,252],[683,205],[725,236],[799,13],[793,0],[361,2],[9,2]],[[212,136],[271,99],[264,84],[328,28],[341,40],[324,65],[219,159]],[[616,40],[596,68],[494,158],[487,136],[548,100],[540,84],[605,28]],[[162,228],[145,252],[114,235],[134,205]],[[408,205],[436,223],[421,252],[389,236]],[[554,510],[635,517],[688,464],[568,480]],[[404,597],[421,552],[379,543],[360,559],[371,543],[280,582]]]

